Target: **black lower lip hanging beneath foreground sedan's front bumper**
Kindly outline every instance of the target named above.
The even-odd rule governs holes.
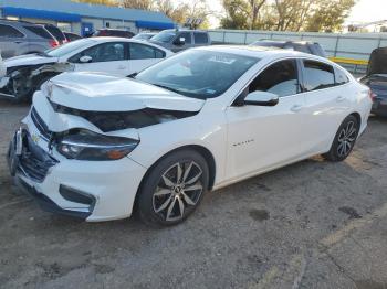
[[[29,185],[20,178],[18,178],[18,184],[21,188],[23,188],[29,193],[29,195],[31,195],[36,201],[36,203],[40,205],[42,210],[46,212],[82,218],[82,220],[86,220],[92,214],[92,210],[90,212],[79,212],[79,211],[64,210],[60,207],[50,197],[48,197],[42,193],[39,193],[33,186]]]

